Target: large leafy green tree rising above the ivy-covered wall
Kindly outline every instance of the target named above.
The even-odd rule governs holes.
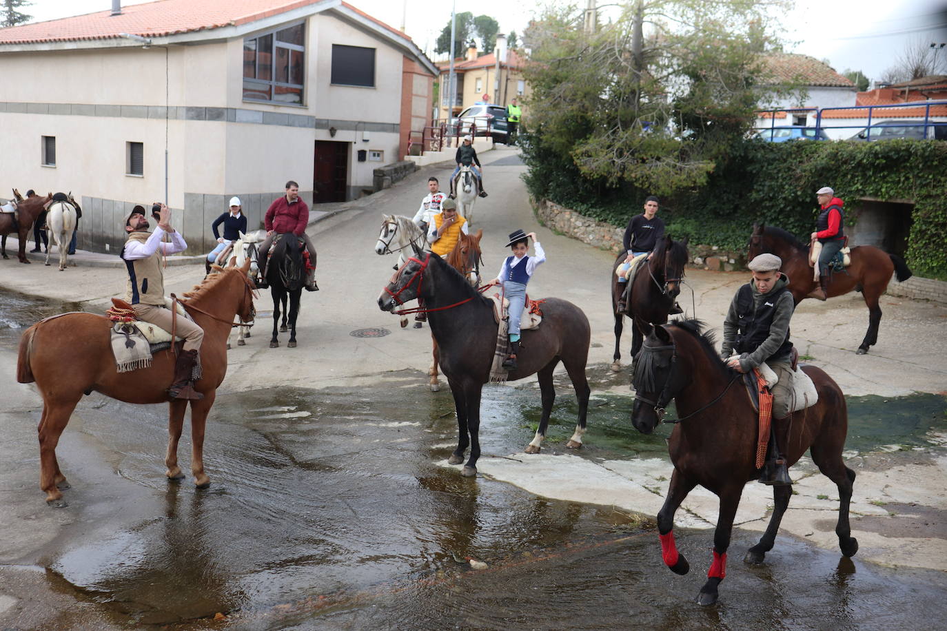
[[[655,194],[703,184],[765,95],[760,56],[777,44],[764,26],[774,4],[635,0],[595,33],[581,10],[547,9],[527,29],[527,163],[558,161],[589,181]]]

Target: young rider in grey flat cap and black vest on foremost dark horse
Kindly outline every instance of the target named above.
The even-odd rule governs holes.
[[[781,266],[782,259],[776,254],[759,254],[746,266],[753,278],[737,290],[730,303],[721,348],[721,356],[730,368],[748,373],[765,361],[778,377],[772,388],[771,448],[759,482],[779,486],[793,483],[779,449],[779,437],[787,431],[792,413],[793,342],[789,341],[789,321],[795,308],[793,294],[786,287],[789,278],[779,272]],[[782,443],[785,447],[786,441]]]

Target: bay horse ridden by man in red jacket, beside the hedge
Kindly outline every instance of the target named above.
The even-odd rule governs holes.
[[[782,259],[781,270],[789,276],[788,288],[793,293],[795,305],[818,287],[809,267],[809,246],[782,228],[754,224],[747,259],[766,253],[776,254]],[[858,346],[857,355],[865,355],[872,344],[878,343],[878,328],[882,322],[882,308],[878,302],[891,281],[892,273],[896,274],[899,283],[913,275],[901,256],[888,254],[871,245],[860,245],[851,249],[851,265],[844,272],[831,274],[827,298],[855,289],[862,292],[868,307],[868,330]]]

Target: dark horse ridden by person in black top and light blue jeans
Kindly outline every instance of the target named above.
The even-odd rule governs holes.
[[[625,290],[626,283],[619,283],[615,271],[625,262],[627,254],[618,254],[612,266],[612,313],[615,316],[615,354],[612,356],[612,370],[621,370],[621,332],[624,329],[625,316],[632,319],[632,361],[641,348],[644,337],[641,331],[645,324],[665,324],[668,312],[681,293],[681,281],[684,278],[684,266],[688,263],[688,239],[674,241],[664,237],[655,244],[652,257],[642,264],[634,276],[631,295],[628,298],[627,313],[618,313],[618,300]]]

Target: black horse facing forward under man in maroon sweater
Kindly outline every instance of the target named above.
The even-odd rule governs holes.
[[[273,338],[270,340],[270,348],[279,346],[277,324],[280,305],[283,307],[283,320],[279,330],[290,331],[290,341],[286,345],[295,348],[295,321],[299,315],[299,296],[302,295],[302,288],[306,284],[306,264],[299,238],[294,234],[279,235],[275,239],[270,262],[266,266],[266,282],[273,294]],[[289,308],[286,307],[287,298]]]

